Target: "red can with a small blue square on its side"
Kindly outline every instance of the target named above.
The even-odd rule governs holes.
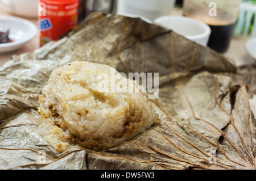
[[[40,46],[77,27],[78,7],[79,0],[39,0]]]

